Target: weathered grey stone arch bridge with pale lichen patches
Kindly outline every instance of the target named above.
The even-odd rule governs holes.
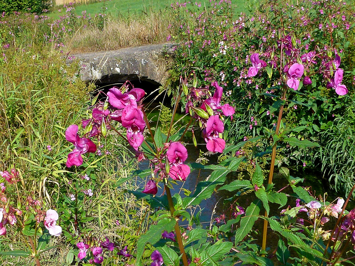
[[[168,43],[76,54],[75,59],[80,61],[80,77],[86,83],[99,86],[129,80],[164,86],[173,55],[173,44]]]

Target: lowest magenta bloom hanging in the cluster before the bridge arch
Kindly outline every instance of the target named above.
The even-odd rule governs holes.
[[[127,128],[128,142],[135,150],[138,150],[143,143],[142,133],[146,127],[142,110],[133,105],[127,105],[122,111],[122,126]]]

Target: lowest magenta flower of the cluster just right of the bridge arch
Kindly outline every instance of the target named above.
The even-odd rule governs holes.
[[[203,129],[202,136],[206,141],[207,149],[212,152],[222,153],[225,148],[224,139],[219,138],[219,133],[223,133],[224,125],[218,115],[210,116],[206,123],[206,129]]]

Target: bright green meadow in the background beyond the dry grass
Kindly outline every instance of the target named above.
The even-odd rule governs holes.
[[[132,15],[140,15],[142,13],[149,12],[149,10],[158,11],[165,9],[170,6],[171,3],[176,4],[177,1],[172,0],[111,0],[111,1],[98,1],[92,2],[89,4],[80,4],[75,7],[75,12],[78,16],[82,14],[82,11],[86,10],[87,14],[105,13],[111,16],[122,15],[125,17],[129,17]],[[198,3],[201,2],[203,5],[209,6],[209,0],[196,1]],[[240,12],[246,12],[244,8],[245,1],[242,0],[232,0],[232,4],[235,6],[236,14]],[[107,10],[106,10],[107,8]],[[58,12],[61,10],[61,12]],[[61,15],[65,14],[65,10],[62,6],[55,7],[53,12],[49,13],[48,16],[52,18],[58,18]]]

